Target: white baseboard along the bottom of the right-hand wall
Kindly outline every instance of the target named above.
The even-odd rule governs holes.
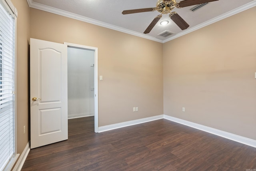
[[[249,146],[252,146],[252,147],[256,148],[256,140],[254,140],[254,139],[249,139],[249,138],[246,138],[246,137],[242,137],[242,136],[239,136],[239,135],[235,135],[235,134],[232,134],[232,133],[228,133],[228,132],[225,132],[225,131],[221,131],[221,130],[218,130],[218,129],[214,129],[214,128],[211,128],[211,127],[207,127],[207,126],[204,126],[204,125],[200,125],[200,124],[197,124],[197,123],[193,123],[193,122],[190,122],[190,121],[186,121],[186,120],[179,119],[179,118],[172,117],[172,116],[168,116],[168,115],[164,115],[164,119],[168,119],[170,121],[174,121],[174,122],[180,123],[182,125],[187,125],[189,127],[200,129],[202,131],[212,133],[214,135],[218,135],[220,137],[231,139],[233,141],[236,141],[236,142],[239,142],[239,143],[249,145]]]

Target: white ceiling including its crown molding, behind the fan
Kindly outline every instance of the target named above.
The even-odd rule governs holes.
[[[152,20],[160,14],[158,11],[123,15],[123,10],[156,7],[157,0],[27,0],[32,8],[45,10],[70,18],[82,20],[106,28],[111,28],[128,34],[133,34],[157,42],[167,42],[228,16],[256,6],[256,0],[218,0],[206,4],[192,12],[189,7],[174,8],[189,25],[186,30],[172,22],[169,15],[163,15],[160,21],[148,34],[143,34]],[[178,0],[176,0],[178,2]],[[162,20],[168,20],[166,26],[160,25]],[[238,21],[239,22],[239,21]],[[158,34],[164,31],[174,34],[164,38]]]

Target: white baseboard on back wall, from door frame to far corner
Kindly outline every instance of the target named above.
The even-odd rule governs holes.
[[[163,119],[163,118],[164,118],[164,115],[158,115],[158,116],[146,117],[143,119],[137,119],[137,120],[133,120],[133,121],[127,121],[127,122],[116,123],[116,124],[112,124],[112,125],[106,125],[106,126],[99,127],[98,132],[100,133],[100,132],[109,131],[112,129],[127,127],[127,126],[131,126],[131,125],[137,125],[140,123],[150,122],[150,121]]]

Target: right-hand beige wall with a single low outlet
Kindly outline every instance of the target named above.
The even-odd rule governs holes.
[[[164,44],[164,114],[256,139],[255,16],[256,7]]]

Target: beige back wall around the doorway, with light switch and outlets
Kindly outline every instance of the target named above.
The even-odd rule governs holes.
[[[34,8],[30,37],[98,48],[99,126],[163,114],[163,44]]]

